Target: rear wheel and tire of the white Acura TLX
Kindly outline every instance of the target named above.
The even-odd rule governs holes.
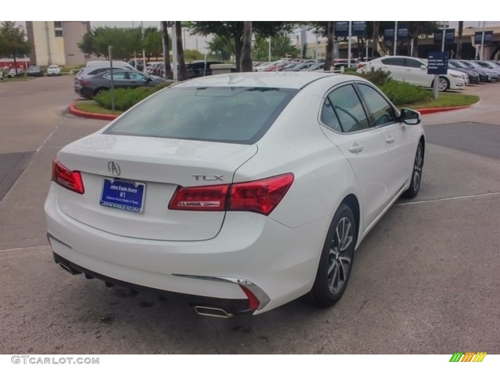
[[[308,294],[308,299],[317,306],[331,306],[347,286],[354,258],[355,225],[352,210],[342,203],[326,234],[316,278]]]

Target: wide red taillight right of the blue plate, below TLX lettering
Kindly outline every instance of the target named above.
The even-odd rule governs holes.
[[[190,211],[251,211],[268,215],[293,182],[293,174],[226,185],[178,187],[168,209]]]

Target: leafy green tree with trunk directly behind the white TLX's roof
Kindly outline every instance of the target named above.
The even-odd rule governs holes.
[[[252,21],[252,33],[255,38],[274,36],[279,32],[289,32],[297,24],[295,21]],[[190,22],[192,34],[214,34],[226,40],[226,45],[234,43],[231,51],[236,58],[236,69],[241,70],[241,52],[243,49],[242,21],[193,21]]]

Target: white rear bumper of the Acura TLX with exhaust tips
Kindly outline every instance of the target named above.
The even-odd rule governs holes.
[[[289,228],[256,213],[227,212],[220,232],[209,240],[139,239],[67,216],[57,204],[55,191],[61,187],[54,185],[45,214],[56,261],[113,284],[154,289],[193,303],[208,298],[209,307],[229,313],[261,313],[309,291],[330,220]],[[248,310],[241,286],[257,297],[254,311]]]

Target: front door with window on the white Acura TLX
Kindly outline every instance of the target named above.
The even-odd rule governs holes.
[[[409,182],[416,143],[411,126],[400,122],[399,114],[391,103],[374,87],[356,83],[373,126],[380,131],[387,146],[389,165],[387,188],[390,195],[401,192]]]

